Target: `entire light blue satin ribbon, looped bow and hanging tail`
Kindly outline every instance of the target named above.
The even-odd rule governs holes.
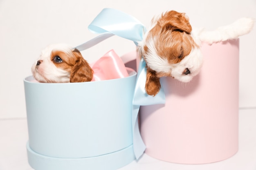
[[[91,46],[111,37],[117,35],[128,40],[132,40],[136,45],[142,40],[146,28],[136,18],[118,11],[116,9],[103,9],[88,29],[93,33],[100,33],[98,37],[77,46],[79,50],[90,48]],[[157,95],[150,96],[145,91],[146,83],[146,62],[142,58],[139,63],[132,110],[132,130],[133,130],[133,148],[136,159],[139,159],[144,153],[146,146],[141,138],[138,124],[138,113],[140,106],[152,104],[164,104],[165,95],[163,88],[160,89]]]

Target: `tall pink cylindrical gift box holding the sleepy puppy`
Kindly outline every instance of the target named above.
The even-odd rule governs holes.
[[[141,106],[151,157],[184,164],[221,161],[238,151],[239,40],[202,44],[204,63],[189,83],[161,79],[165,104]]]

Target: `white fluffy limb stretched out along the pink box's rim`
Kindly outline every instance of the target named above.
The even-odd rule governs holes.
[[[253,26],[255,20],[252,18],[240,18],[234,23],[220,26],[214,31],[204,31],[199,35],[202,42],[207,42],[212,44],[213,42],[221,42],[229,39],[236,39],[241,35],[249,33]]]

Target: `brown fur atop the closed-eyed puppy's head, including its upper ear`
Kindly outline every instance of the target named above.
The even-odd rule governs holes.
[[[176,64],[197,46],[190,35],[191,31],[191,25],[184,13],[169,11],[157,20],[157,24],[148,33],[146,41],[155,40],[157,55],[167,58],[170,64]]]

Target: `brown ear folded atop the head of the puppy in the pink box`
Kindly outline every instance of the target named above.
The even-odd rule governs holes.
[[[158,24],[165,30],[177,30],[186,33],[191,33],[192,31],[189,18],[186,17],[186,14],[176,11],[168,11],[162,14],[162,17],[158,20]]]

